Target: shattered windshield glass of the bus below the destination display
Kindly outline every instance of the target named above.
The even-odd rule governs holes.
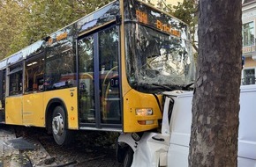
[[[125,31],[126,72],[132,88],[149,91],[193,82],[192,47],[186,33],[178,38],[134,22],[126,23]]]

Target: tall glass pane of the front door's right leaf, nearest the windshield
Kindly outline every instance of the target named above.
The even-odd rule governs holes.
[[[100,91],[102,122],[121,123],[119,74],[118,74],[118,30],[116,26],[99,33]]]

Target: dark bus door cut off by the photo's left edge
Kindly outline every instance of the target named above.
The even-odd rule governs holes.
[[[5,105],[5,76],[6,70],[0,71],[0,122],[4,122],[4,105]]]

